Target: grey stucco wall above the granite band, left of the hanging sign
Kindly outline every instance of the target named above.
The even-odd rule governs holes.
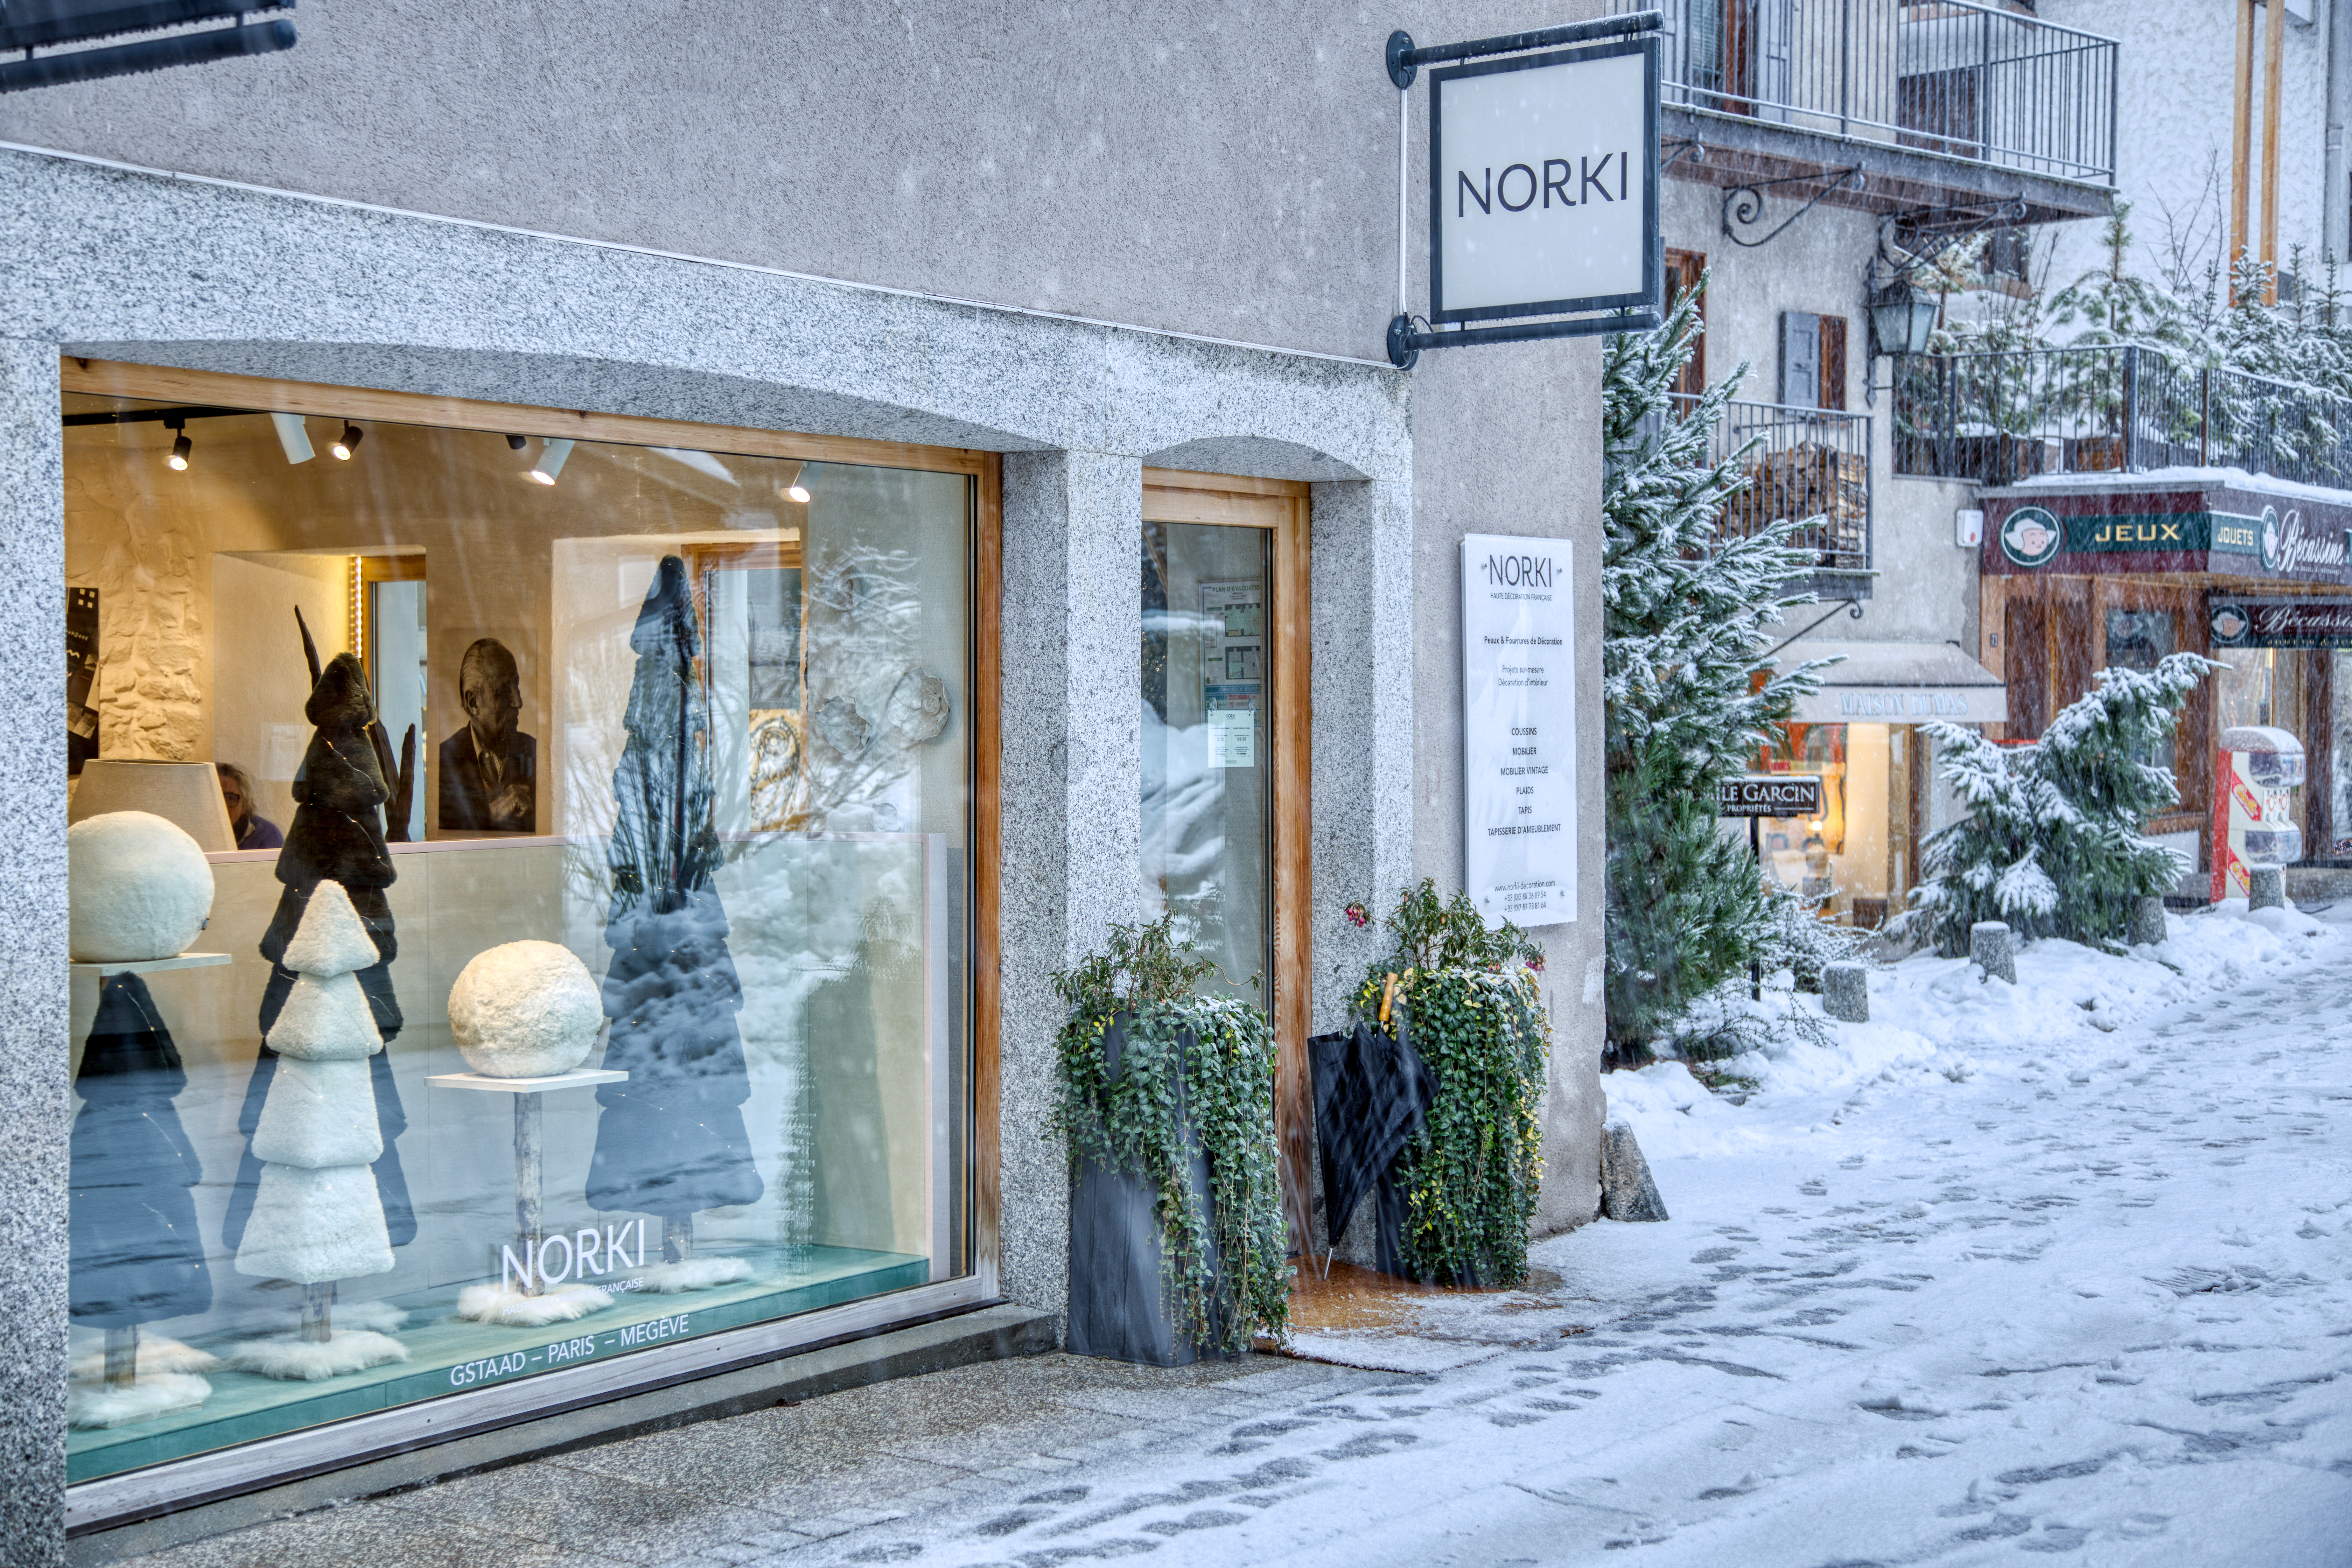
[[[287,54],[9,94],[0,141],[1378,357],[1390,28],[1597,9],[303,0]]]

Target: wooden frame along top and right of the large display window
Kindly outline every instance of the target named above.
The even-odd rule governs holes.
[[[315,381],[275,381],[268,376],[233,376],[169,364],[127,364],[68,355],[59,364],[59,390],[96,397],[136,397],[148,402],[226,404],[278,414],[322,418],[360,418],[400,425],[435,425],[454,430],[496,430],[506,435],[541,435],[550,440],[609,442],[616,447],[687,447],[764,458],[800,458],[809,463],[856,463],[870,468],[910,468],[922,473],[960,473],[974,480],[969,517],[969,616],[971,616],[971,926],[967,943],[971,985],[971,1037],[967,1060],[964,1194],[967,1227],[962,1269],[950,1267],[941,1284],[971,1281],[978,1298],[993,1298],[1002,1269],[1002,1016],[1004,992],[997,966],[1002,912],[1002,773],[1000,773],[1000,691],[1002,691],[1002,590],[1004,590],[1004,463],[995,451],[971,447],[920,447],[915,442],[870,442],[844,435],[807,435],[793,430],[757,430],[748,425],[710,425],[682,418],[644,418],[635,414],[597,414],[593,409],[543,409],[475,397],[435,397],[428,393],[388,393]],[[1237,484],[1265,484],[1242,480]],[[1298,487],[1301,494],[1305,487]],[[1303,503],[1301,503],[1303,508]],[[374,557],[369,557],[374,559]],[[393,557],[388,557],[393,559]],[[393,569],[405,571],[405,569]],[[409,849],[409,846],[402,846]],[[426,846],[416,846],[426,849]],[[1303,851],[1301,851],[1303,853]],[[953,1140],[950,1140],[953,1150]],[[936,1286],[934,1286],[936,1288]],[[882,1298],[877,1298],[882,1300]],[[910,1305],[922,1314],[922,1305]],[[790,1319],[776,1319],[790,1321]],[[760,1326],[753,1326],[760,1328]]]

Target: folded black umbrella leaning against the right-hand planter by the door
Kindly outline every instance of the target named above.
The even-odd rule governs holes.
[[[1404,1220],[1395,1164],[1430,1114],[1435,1079],[1402,1034],[1369,1023],[1348,1034],[1308,1041],[1315,1065],[1315,1140],[1324,1161],[1324,1227],[1331,1246],[1355,1218],[1355,1206],[1381,1190],[1381,1272],[1397,1272],[1397,1232]]]

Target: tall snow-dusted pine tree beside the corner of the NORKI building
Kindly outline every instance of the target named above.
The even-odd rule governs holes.
[[[1766,957],[1778,929],[1745,844],[1717,830],[1717,785],[1743,771],[1816,686],[1764,658],[1809,567],[1790,522],[1738,538],[1724,501],[1740,458],[1708,456],[1745,364],[1675,407],[1700,334],[1686,292],[1665,327],[1602,355],[1602,693],[1606,701],[1609,1056],[1644,1060],[1693,999]],[[1757,679],[1762,677],[1762,679]]]

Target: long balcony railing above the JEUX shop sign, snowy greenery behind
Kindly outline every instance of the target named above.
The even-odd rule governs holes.
[[[1896,360],[1896,473],[2016,484],[2058,473],[2244,468],[2352,489],[2352,404],[2176,364],[2154,348]]]

